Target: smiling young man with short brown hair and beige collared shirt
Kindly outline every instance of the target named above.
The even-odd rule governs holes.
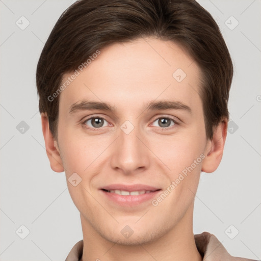
[[[51,169],[65,171],[81,216],[66,261],[250,260],[193,234],[200,172],[222,159],[232,74],[195,1],[83,0],[61,15],[37,89]]]

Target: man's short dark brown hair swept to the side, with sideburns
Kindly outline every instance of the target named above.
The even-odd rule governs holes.
[[[229,118],[233,65],[211,14],[194,0],[80,0],[56,22],[37,65],[39,111],[47,113],[56,140],[59,95],[52,101],[48,97],[58,90],[63,75],[98,49],[142,37],[180,44],[200,67],[205,131],[212,139],[214,127]]]

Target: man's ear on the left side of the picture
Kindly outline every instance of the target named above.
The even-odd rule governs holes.
[[[50,162],[50,167],[55,172],[63,172],[64,168],[59,147],[57,141],[50,132],[49,121],[46,113],[41,113],[41,120],[45,149]]]

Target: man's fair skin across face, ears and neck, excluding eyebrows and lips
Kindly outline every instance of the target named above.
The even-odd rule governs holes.
[[[177,68],[187,74],[180,83],[172,76]],[[65,171],[69,193],[80,211],[83,261],[115,261],[123,256],[125,261],[202,260],[193,234],[194,198],[200,172],[213,172],[220,164],[227,119],[207,140],[198,94],[200,75],[193,59],[171,41],[142,38],[116,43],[102,49],[60,94],[57,141],[46,115],[41,114],[51,169]],[[70,107],[82,100],[108,102],[116,111],[69,114]],[[159,100],[182,102],[191,113],[144,111],[144,104]],[[105,119],[101,127],[86,121],[94,116]],[[162,125],[160,119],[165,117],[176,124],[170,120]],[[126,120],[134,126],[129,134],[120,128]],[[157,206],[151,200],[119,206],[99,190],[118,183],[146,184],[164,191],[202,153],[205,158]],[[72,173],[82,178],[76,187],[68,181]],[[134,231],[129,238],[121,233],[126,225]]]

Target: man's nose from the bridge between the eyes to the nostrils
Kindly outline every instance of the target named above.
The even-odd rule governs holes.
[[[133,128],[134,127],[134,128]],[[146,135],[129,122],[119,129],[111,157],[111,167],[125,175],[140,173],[149,168],[149,148]],[[133,128],[130,133],[128,131]]]

